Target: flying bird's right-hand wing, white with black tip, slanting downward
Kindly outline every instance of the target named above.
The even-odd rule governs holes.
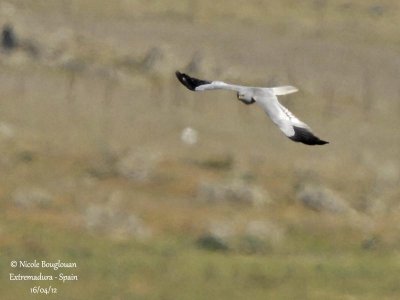
[[[306,145],[325,145],[329,143],[315,136],[311,128],[279,103],[275,95],[264,93],[254,99],[264,109],[272,122],[292,141]]]

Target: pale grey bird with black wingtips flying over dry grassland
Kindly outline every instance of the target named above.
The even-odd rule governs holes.
[[[271,118],[272,122],[292,141],[307,145],[324,145],[328,142],[316,137],[311,128],[296,118],[286,107],[279,103],[277,96],[295,93],[293,86],[248,87],[228,84],[222,81],[207,81],[190,77],[176,71],[178,80],[191,91],[230,90],[237,92],[238,100],[244,104],[257,103]]]

